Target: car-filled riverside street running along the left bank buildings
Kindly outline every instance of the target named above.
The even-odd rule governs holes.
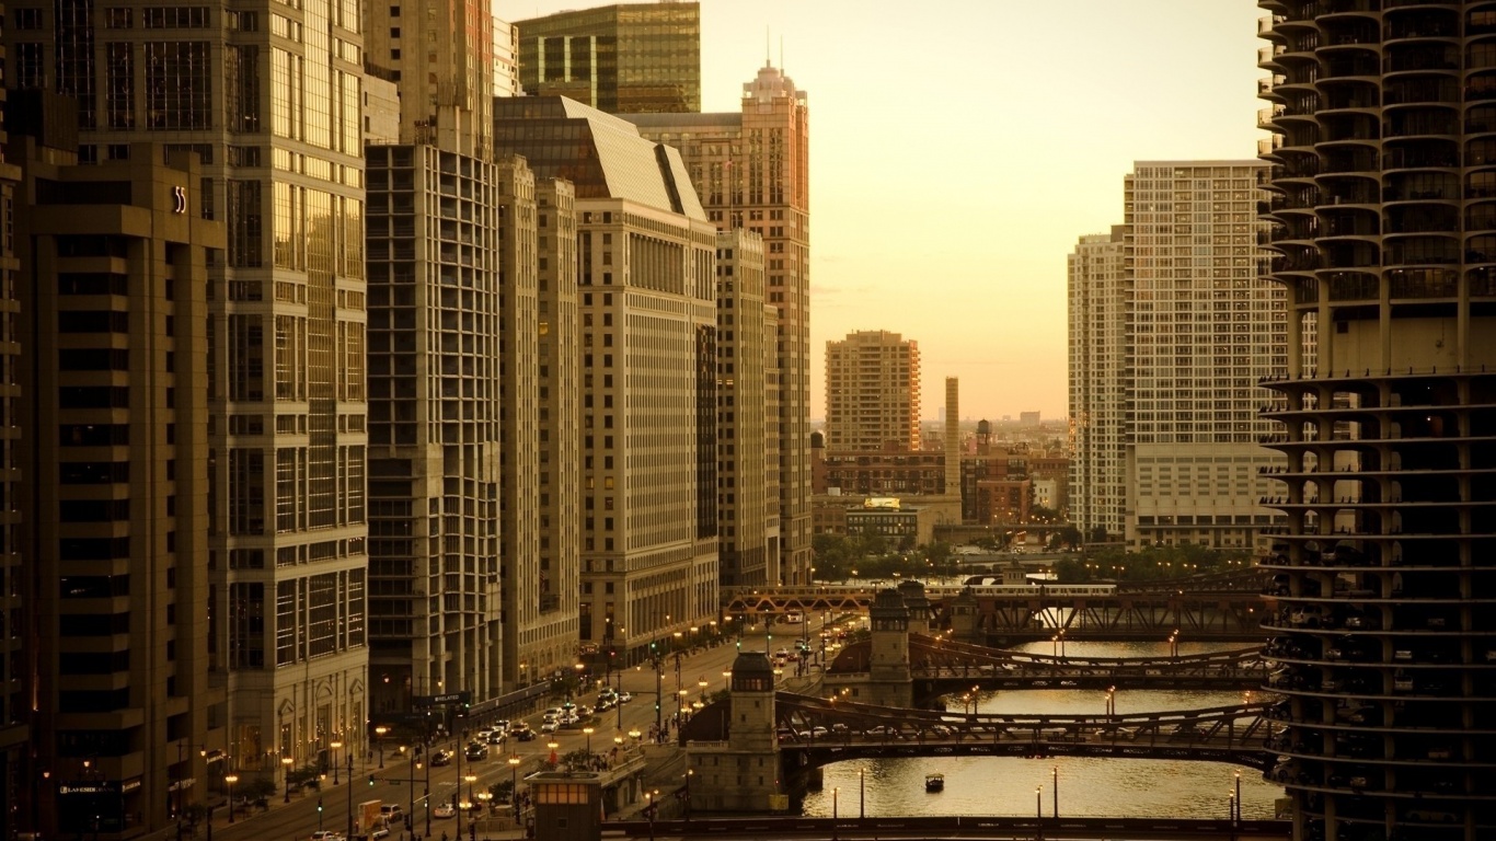
[[[606,756],[615,747],[615,738],[622,738],[625,747],[633,742],[628,736],[630,730],[637,730],[640,733],[639,741],[646,741],[649,738],[651,726],[655,723],[655,690],[660,688],[661,711],[660,720],[670,721],[672,715],[678,709],[678,703],[682,703],[682,696],[679,690],[685,690],[684,708],[690,711],[690,703],[702,697],[700,681],[706,681],[706,693],[717,693],[726,688],[724,670],[729,670],[733,660],[738,657],[739,645],[744,651],[776,651],[779,648],[793,648],[794,639],[799,639],[806,630],[811,639],[817,639],[821,629],[821,617],[817,615],[811,618],[809,624],[787,626],[778,624],[772,626],[769,630],[772,633],[766,634],[763,626],[748,629],[741,643],[736,640],[729,640],[723,645],[712,648],[699,648],[694,652],[682,652],[679,660],[675,655],[667,657],[663,661],[663,669],[657,681],[655,670],[649,666],[637,666],[624,669],[622,673],[613,672],[610,675],[610,685],[619,687],[630,694],[633,700],[630,703],[619,705],[616,709],[609,709],[600,714],[594,721],[594,732],[591,736],[583,733],[580,729],[565,729],[557,733],[540,733],[540,712],[525,715],[524,720],[530,723],[531,729],[537,732],[537,736],[531,742],[521,742],[513,738],[506,741],[503,745],[489,747],[489,759],[468,762],[465,757],[461,763],[461,772],[458,771],[458,762],[453,759],[452,765],[444,768],[422,768],[420,771],[411,769],[411,762],[405,759],[398,745],[384,745],[384,763],[380,768],[377,760],[373,762],[356,762],[352,780],[347,778],[347,768],[340,769],[338,784],[332,784],[332,777],[323,784],[322,792],[305,790],[305,793],[292,793],[290,802],[284,802],[284,790],[271,798],[271,808],[268,811],[250,810],[248,813],[239,813],[235,823],[227,822],[226,810],[215,810],[214,820],[211,823],[211,837],[221,841],[299,841],[311,837],[316,829],[329,829],[337,832],[347,832],[349,828],[349,805],[352,804],[356,814],[358,805],[365,801],[383,801],[387,804],[399,804],[404,810],[411,811],[413,826],[417,837],[426,837],[428,825],[428,805],[423,802],[423,792],[426,790],[426,772],[431,774],[431,801],[434,804],[450,802],[452,796],[458,793],[459,774],[474,774],[477,780],[473,783],[473,792],[486,792],[489,786],[510,780],[513,777],[512,766],[509,763],[510,756],[519,756],[519,777],[521,789],[524,790],[524,775],[542,771],[546,768],[549,760],[551,748],[549,741],[557,742],[557,754],[565,756],[571,751],[582,751],[588,748],[591,742],[591,750],[595,754]],[[818,649],[818,645],[815,646]],[[679,667],[676,666],[679,663]],[[793,672],[793,670],[791,670]],[[595,685],[595,684],[594,684]],[[577,703],[595,705],[597,693],[586,693]],[[560,700],[548,702],[560,703]],[[670,730],[672,736],[675,730]],[[438,742],[432,748],[444,748],[447,751],[455,751],[465,744],[461,738],[453,738],[446,742]],[[408,751],[407,751],[408,753]],[[374,778],[374,786],[370,786],[370,775]],[[411,786],[411,775],[414,775],[414,786]],[[248,774],[241,774],[241,778],[247,778]],[[462,789],[462,799],[467,799],[467,789]],[[317,813],[317,804],[322,804],[322,814]],[[495,810],[495,814],[506,814],[501,810]],[[455,819],[437,819],[429,820],[431,834],[435,838],[441,838],[443,834],[456,838]],[[390,840],[398,841],[401,838],[399,828],[393,828]],[[199,838],[203,835],[203,829],[199,828]],[[468,820],[462,819],[462,837],[468,835]],[[488,835],[480,831],[479,838]],[[500,835],[498,832],[494,834]],[[509,834],[512,835],[512,832]],[[159,834],[157,838],[171,840],[175,838],[175,832]]]

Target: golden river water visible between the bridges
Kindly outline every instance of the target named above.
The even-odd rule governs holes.
[[[1179,643],[1179,654],[1242,648],[1242,643]],[[1019,646],[1049,654],[1052,643]],[[1167,643],[1067,643],[1071,657],[1167,655]],[[1197,709],[1242,702],[1239,691],[1126,690],[1116,693],[1116,712]],[[947,706],[962,712],[960,699]],[[1106,696],[1095,690],[1004,690],[983,693],[981,712],[1101,715]],[[1053,814],[1055,769],[1059,814],[1085,817],[1224,819],[1242,777],[1242,817],[1273,817],[1282,786],[1258,771],[1219,762],[1110,757],[917,757],[838,762],[824,768],[823,787],[805,796],[806,816],[829,817],[832,801],[842,817],[857,816],[1032,816],[1035,789],[1044,816]],[[859,775],[859,771],[862,772]],[[925,775],[945,775],[945,790],[925,792]],[[833,790],[836,792],[833,796]]]

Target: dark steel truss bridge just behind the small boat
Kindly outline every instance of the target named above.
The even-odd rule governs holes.
[[[717,700],[681,727],[681,744],[726,742],[730,702]],[[787,772],[889,756],[1113,756],[1230,762],[1266,771],[1266,702],[1128,715],[1017,715],[902,709],[775,693]]]

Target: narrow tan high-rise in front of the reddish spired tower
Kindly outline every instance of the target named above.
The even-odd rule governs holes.
[[[717,235],[717,512],[723,587],[778,582],[779,506],[773,307],[763,239]]]

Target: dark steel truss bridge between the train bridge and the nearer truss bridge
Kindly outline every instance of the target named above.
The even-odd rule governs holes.
[[[871,640],[850,643],[827,666],[826,676],[865,673],[871,652]],[[968,687],[1255,690],[1267,681],[1261,654],[1261,646],[1254,646],[1177,657],[1067,657],[910,634],[910,673],[917,699],[960,694]]]

